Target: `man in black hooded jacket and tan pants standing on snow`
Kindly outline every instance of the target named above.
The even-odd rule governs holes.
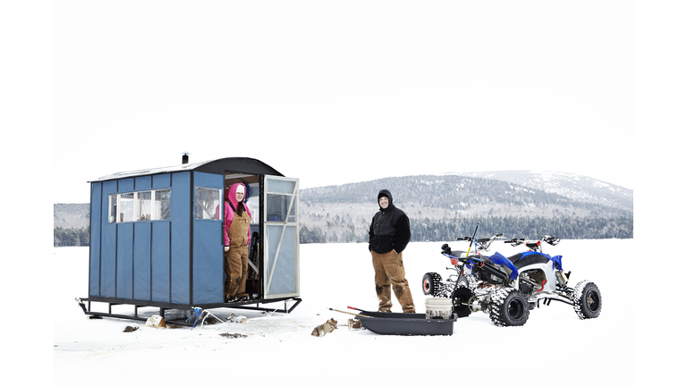
[[[369,251],[375,268],[375,287],[379,311],[391,312],[391,287],[404,313],[415,313],[411,289],[405,280],[403,249],[411,241],[411,222],[408,216],[394,206],[391,192],[379,190],[379,212],[369,225]]]

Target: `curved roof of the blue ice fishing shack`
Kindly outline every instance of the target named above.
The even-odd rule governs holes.
[[[120,180],[124,178],[140,177],[152,174],[186,171],[208,172],[211,174],[225,174],[225,172],[243,172],[250,174],[267,174],[284,177],[284,174],[277,172],[274,168],[272,168],[272,166],[265,164],[257,159],[246,157],[229,157],[192,164],[176,164],[174,166],[166,166],[155,169],[143,169],[131,172],[116,172],[114,174],[109,174],[100,177],[98,178],[98,180],[92,180],[89,182]]]

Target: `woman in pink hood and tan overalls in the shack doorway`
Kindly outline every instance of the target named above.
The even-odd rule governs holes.
[[[250,210],[244,204],[246,187],[235,183],[225,188],[225,300],[248,300],[248,246],[250,245]]]

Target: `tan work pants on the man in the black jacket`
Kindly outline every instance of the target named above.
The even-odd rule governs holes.
[[[393,250],[386,254],[372,251],[372,266],[375,268],[375,290],[379,299],[379,311],[391,312],[391,288],[398,302],[403,306],[404,313],[415,313],[412,303],[411,289],[405,279],[403,267],[403,253],[396,254]]]

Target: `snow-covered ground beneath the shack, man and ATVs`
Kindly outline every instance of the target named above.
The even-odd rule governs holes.
[[[411,243],[403,253],[417,312],[424,312],[424,273],[445,277],[443,243]],[[463,242],[450,242],[454,248]],[[520,247],[522,248],[522,247]],[[491,252],[523,250],[494,243]],[[487,315],[454,323],[452,336],[387,336],[340,327],[324,337],[318,324],[352,315],[327,308],[376,310],[367,244],[301,245],[301,298],[292,314],[211,310],[246,323],[155,329],[144,322],[89,320],[74,298],[88,293],[89,248],[55,248],[55,384],[631,384],[633,304],[628,280],[632,239],[566,240],[544,252],[563,255],[571,283],[594,281],[603,297],[597,319],[580,320],[572,306],[553,302],[530,312],[522,327],[496,327]],[[281,306],[277,303],[276,306]],[[145,310],[145,309],[144,309]],[[350,310],[349,310],[350,311]],[[401,312],[394,298],[394,312]],[[145,315],[145,314],[144,314]],[[152,314],[152,309],[150,311]],[[133,332],[123,332],[137,326]],[[220,334],[239,333],[230,339]],[[237,383],[240,382],[240,383]],[[382,383],[384,382],[384,383]]]

